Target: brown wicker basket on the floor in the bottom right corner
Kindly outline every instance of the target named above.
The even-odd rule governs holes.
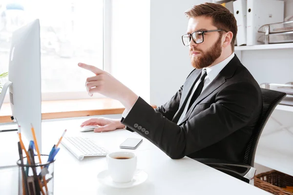
[[[293,176],[275,170],[261,173],[254,177],[254,186],[274,195],[293,195],[284,189],[293,186]]]

